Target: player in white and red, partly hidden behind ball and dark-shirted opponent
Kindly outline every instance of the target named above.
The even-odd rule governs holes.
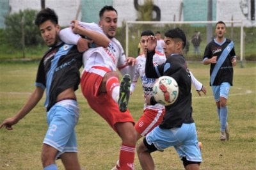
[[[153,128],[155,128],[161,121],[163,120],[164,115],[164,105],[161,104],[155,104],[155,105],[148,105],[146,102],[146,98],[148,96],[152,96],[153,93],[153,86],[157,79],[150,79],[145,75],[145,63],[146,63],[146,56],[147,50],[148,50],[148,36],[154,36],[154,33],[150,30],[142,31],[141,33],[141,39],[140,44],[143,49],[143,54],[138,56],[137,59],[137,65],[135,69],[134,78],[132,80],[131,84],[131,93],[134,91],[136,84],[138,82],[138,79],[141,79],[141,85],[143,88],[145,103],[143,107],[143,114],[141,115],[138,122],[135,124],[135,129],[137,132],[137,141],[142,137],[148,134]],[[153,56],[153,65],[161,65],[166,61],[166,56],[156,50],[156,53]],[[191,73],[191,79],[192,83],[196,88],[196,91],[198,91],[198,94],[200,95],[200,91],[202,91],[204,94],[206,93],[206,89],[204,88],[203,84]]]

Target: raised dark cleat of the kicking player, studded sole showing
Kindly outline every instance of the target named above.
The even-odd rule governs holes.
[[[118,98],[119,110],[121,112],[125,112],[127,110],[127,105],[130,97],[130,87],[131,87],[131,76],[129,74],[125,74],[122,77],[122,81],[120,83],[120,91]]]

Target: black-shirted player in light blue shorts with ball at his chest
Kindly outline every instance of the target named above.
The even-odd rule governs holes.
[[[154,36],[148,38],[145,73],[152,79],[163,75],[173,77],[179,84],[179,97],[174,104],[165,107],[166,112],[160,125],[149,132],[138,144],[138,158],[142,169],[154,169],[151,153],[174,146],[185,169],[199,169],[202,156],[192,117],[191,75],[182,56],[186,35],[179,28],[171,29],[164,34],[164,43],[166,62],[163,65],[154,66],[156,38]],[[154,97],[147,97],[147,104],[156,104]]]

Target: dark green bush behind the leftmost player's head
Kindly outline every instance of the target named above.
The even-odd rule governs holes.
[[[34,24],[36,10],[24,10],[19,13],[7,15],[6,25],[6,42],[17,49],[22,48],[22,34],[24,34],[24,45],[33,46],[42,43],[40,31]],[[22,31],[22,26],[23,30]]]

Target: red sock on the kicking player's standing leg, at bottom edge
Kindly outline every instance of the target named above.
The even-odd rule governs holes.
[[[119,155],[119,164],[121,170],[134,169],[135,146],[122,144]]]

